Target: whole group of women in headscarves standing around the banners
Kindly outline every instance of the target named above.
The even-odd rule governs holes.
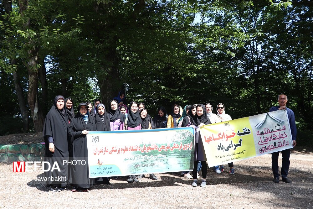
[[[93,107],[94,106],[94,107]],[[201,187],[206,185],[207,164],[206,156],[199,134],[199,128],[206,124],[218,123],[231,120],[231,117],[225,114],[224,105],[218,104],[217,115],[212,113],[210,103],[187,105],[183,109],[179,105],[173,105],[172,113],[168,115],[164,107],[158,108],[157,115],[152,118],[145,104],[135,101],[126,104],[125,92],[119,92],[118,97],[110,101],[106,108],[100,100],[94,103],[80,103],[77,108],[77,114],[74,114],[73,99],[63,96],[56,96],[53,106],[48,112],[43,130],[45,140],[45,161],[50,165],[56,161],[60,165],[60,171],[46,171],[47,186],[51,191],[62,191],[66,189],[67,184],[73,186],[72,191],[88,191],[95,183],[110,184],[110,178],[89,178],[88,176],[88,153],[86,135],[89,131],[108,131],[108,130],[139,130],[152,128],[174,128],[192,126],[196,130],[195,135],[195,162],[192,171],[192,186],[197,186],[198,162],[202,165],[203,180]],[[182,113],[181,113],[182,111]],[[81,162],[85,164],[68,165],[64,164],[64,159]],[[229,164],[231,171],[233,165]],[[223,169],[223,166],[221,165]],[[219,170],[217,166],[216,170]],[[183,173],[183,172],[182,172]],[[185,171],[189,174],[189,171]],[[187,177],[184,173],[184,176]],[[218,173],[218,171],[217,171]],[[233,174],[233,172],[230,172]],[[63,180],[53,180],[64,176]],[[50,177],[50,178],[49,178]],[[128,176],[127,182],[138,182],[143,175]],[[190,175],[191,177],[191,175]],[[187,178],[190,178],[189,176]],[[150,174],[149,178],[157,180],[156,175]]]

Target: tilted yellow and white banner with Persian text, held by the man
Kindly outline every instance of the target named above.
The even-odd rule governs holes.
[[[286,110],[209,124],[199,131],[210,167],[292,148]]]

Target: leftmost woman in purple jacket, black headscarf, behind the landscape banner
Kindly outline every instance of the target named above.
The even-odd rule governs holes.
[[[126,120],[125,114],[123,114],[118,108],[117,101],[114,99],[110,101],[109,115],[111,131],[123,130]]]

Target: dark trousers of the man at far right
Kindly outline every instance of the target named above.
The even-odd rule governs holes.
[[[282,178],[286,178],[288,175],[288,170],[289,170],[289,165],[290,165],[290,161],[289,161],[290,149],[282,150],[281,155],[283,157],[283,162],[281,165],[280,173],[281,173]],[[279,152],[272,153],[272,170],[273,170],[274,178],[280,176],[278,173],[278,156],[279,156]]]

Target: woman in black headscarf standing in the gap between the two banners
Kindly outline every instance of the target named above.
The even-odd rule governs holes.
[[[193,166],[193,182],[192,186],[197,186],[197,165],[198,165],[198,160],[201,161],[202,165],[202,182],[200,184],[201,187],[205,187],[207,185],[207,157],[204,152],[204,147],[201,139],[201,134],[199,132],[199,128],[201,128],[204,125],[211,124],[211,121],[208,119],[208,116],[205,111],[205,107],[203,104],[198,104],[196,107],[196,115],[192,117],[191,123],[195,126],[196,128],[196,136],[195,136],[195,157],[194,157],[194,166]]]

